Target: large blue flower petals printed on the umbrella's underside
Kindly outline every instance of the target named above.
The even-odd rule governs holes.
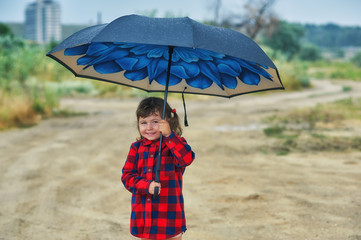
[[[91,42],[65,49],[66,56],[79,56],[77,64],[93,67],[100,74],[124,71],[131,81],[156,81],[166,84],[168,46],[116,42]],[[215,83],[219,88],[235,89],[238,80],[258,85],[261,76],[272,81],[267,66],[204,49],[174,47],[169,86],[183,79],[194,88],[206,89]]]

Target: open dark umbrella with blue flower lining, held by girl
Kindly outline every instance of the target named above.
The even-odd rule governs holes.
[[[230,98],[284,89],[276,66],[253,40],[188,17],[123,16],[74,33],[47,56],[77,77],[164,92],[165,102],[168,92]],[[163,119],[164,112],[165,104]],[[161,146],[162,136],[157,182]]]

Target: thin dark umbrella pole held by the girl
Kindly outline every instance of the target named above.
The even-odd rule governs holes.
[[[163,103],[163,114],[162,119],[165,119],[165,109],[167,106],[167,97],[168,97],[168,87],[169,87],[169,77],[170,77],[170,67],[172,65],[172,55],[173,55],[173,46],[169,46],[169,59],[168,59],[168,71],[167,71],[167,80],[165,83],[165,91],[164,91],[164,103]],[[162,143],[163,143],[163,134],[160,133],[160,139],[159,139],[159,150],[158,150],[158,156],[157,156],[157,165],[155,170],[155,182],[160,182],[160,163],[162,159]],[[158,199],[159,194],[159,188],[154,188],[154,199]]]

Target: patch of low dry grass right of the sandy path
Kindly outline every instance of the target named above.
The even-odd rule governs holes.
[[[304,151],[361,150],[361,98],[346,98],[312,108],[295,109],[264,119],[264,134],[273,138],[265,152],[286,155]]]

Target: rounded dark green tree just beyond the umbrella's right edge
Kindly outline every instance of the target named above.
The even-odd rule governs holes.
[[[305,34],[302,25],[281,21],[275,31],[271,33],[264,43],[276,51],[280,51],[291,60],[301,49],[301,38]]]

